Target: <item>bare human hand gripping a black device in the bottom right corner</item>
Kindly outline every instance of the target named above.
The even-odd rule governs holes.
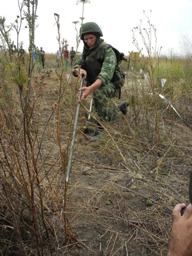
[[[181,216],[184,207],[185,204],[177,204],[174,207],[167,256],[192,256],[192,205],[189,204]]]

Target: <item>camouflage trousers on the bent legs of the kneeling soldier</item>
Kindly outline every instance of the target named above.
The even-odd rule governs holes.
[[[109,122],[117,112],[115,106],[108,107],[109,99],[115,96],[115,87],[112,82],[101,86],[93,92],[93,106],[98,116]]]

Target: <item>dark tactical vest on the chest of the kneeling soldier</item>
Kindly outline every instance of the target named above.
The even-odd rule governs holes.
[[[102,43],[101,43],[102,44]],[[111,48],[110,45],[104,45],[96,48],[86,57],[86,64],[83,65],[83,69],[87,71],[87,86],[90,86],[96,81],[97,76],[101,72],[101,68],[105,58],[105,51]]]

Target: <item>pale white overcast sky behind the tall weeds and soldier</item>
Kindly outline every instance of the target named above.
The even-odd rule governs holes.
[[[144,27],[148,27],[143,10],[146,14],[151,10],[151,23],[156,28],[157,46],[162,46],[162,53],[169,54],[173,49],[174,53],[180,54],[181,35],[192,35],[192,0],[91,0],[84,5],[84,23],[96,22],[101,27],[103,39],[128,55],[128,51],[137,51],[132,43],[133,27],[140,20]],[[82,17],[82,4],[77,5],[77,0],[38,0],[35,44],[43,47],[46,53],[55,53],[58,49],[54,13],[60,15],[61,37],[76,50],[76,31],[72,22],[80,21],[79,17]],[[7,24],[13,23],[19,15],[18,0],[3,1],[0,15],[7,18]],[[23,48],[28,49],[25,25],[23,22],[19,41],[23,41]],[[12,38],[16,38],[14,32]],[[139,41],[139,35],[137,38]],[[82,44],[78,50],[82,51]]]

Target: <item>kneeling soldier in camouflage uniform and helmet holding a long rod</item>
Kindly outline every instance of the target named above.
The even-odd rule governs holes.
[[[101,120],[110,121],[119,109],[123,114],[127,113],[128,102],[124,101],[117,107],[108,107],[108,99],[115,96],[115,87],[111,82],[116,66],[116,55],[112,47],[100,37],[103,33],[94,22],[87,22],[80,28],[81,40],[84,48],[81,58],[74,64],[73,75],[86,78],[87,85],[82,87],[82,98],[86,99],[92,92],[93,105]],[[80,67],[80,68],[79,68]],[[93,133],[90,141],[101,138],[101,127]]]

